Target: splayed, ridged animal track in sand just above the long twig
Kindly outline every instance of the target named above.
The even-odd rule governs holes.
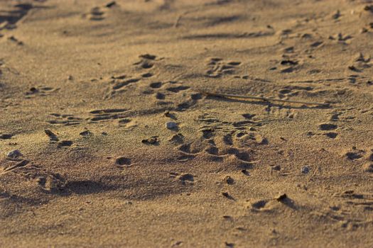
[[[212,57],[207,60],[207,71],[205,76],[206,77],[222,77],[225,74],[234,74],[237,66],[239,66],[241,62],[237,61],[224,61],[222,58],[219,57]]]

